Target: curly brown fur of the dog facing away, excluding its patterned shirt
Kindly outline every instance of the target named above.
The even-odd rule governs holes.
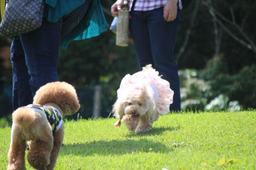
[[[40,87],[33,104],[55,107],[62,117],[74,114],[80,108],[75,88],[66,82],[53,82]],[[7,169],[26,169],[26,141],[30,148],[27,155],[29,164],[35,169],[53,169],[64,137],[64,124],[53,135],[47,118],[26,107],[15,110],[12,119]]]

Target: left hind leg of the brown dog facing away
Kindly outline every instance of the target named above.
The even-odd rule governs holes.
[[[23,139],[19,128],[12,126],[11,145],[8,153],[9,164],[7,169],[24,170],[25,167],[25,151],[27,149],[26,140]]]

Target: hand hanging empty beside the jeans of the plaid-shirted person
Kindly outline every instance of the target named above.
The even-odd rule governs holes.
[[[163,17],[167,22],[173,21],[177,16],[178,0],[169,0],[163,8]]]

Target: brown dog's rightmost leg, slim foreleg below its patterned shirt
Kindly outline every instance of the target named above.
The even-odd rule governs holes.
[[[64,124],[61,125],[59,130],[53,136],[53,148],[50,157],[50,164],[46,167],[47,170],[52,170],[55,167],[59,151],[62,147],[64,138]]]

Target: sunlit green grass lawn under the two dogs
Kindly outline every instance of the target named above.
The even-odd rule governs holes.
[[[145,134],[123,123],[115,129],[116,121],[66,121],[55,169],[256,169],[255,110],[171,113]],[[7,168],[10,133],[0,128],[0,169]]]

